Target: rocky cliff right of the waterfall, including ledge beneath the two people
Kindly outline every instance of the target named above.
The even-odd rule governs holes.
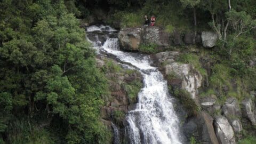
[[[151,54],[154,60],[153,65],[162,71],[171,87],[170,92],[174,97],[176,95],[185,109],[185,113],[183,111],[180,117],[181,121],[184,121],[183,132],[188,140],[195,137],[201,143],[236,143],[242,138],[243,127],[255,125],[255,103],[253,101],[255,93],[251,92],[251,97],[242,101],[229,96],[225,101],[220,102],[221,97],[218,92],[217,95],[209,93],[202,97],[200,91],[210,89],[208,79],[212,75],[211,67],[214,62],[207,58],[201,58],[199,61],[200,65],[206,69],[206,75],[201,74],[198,68],[191,63],[179,62],[180,55],[184,53],[200,55],[198,46],[204,47],[203,49],[214,47],[218,39],[216,34],[211,31],[202,31],[196,36],[193,33],[180,33],[179,31],[173,31],[170,34],[160,27],[143,26],[121,29],[118,37],[124,51],[137,52],[140,51],[142,44],[149,43],[157,45],[156,51],[165,51]],[[189,47],[195,44],[197,46],[193,49],[166,51],[170,47],[179,48],[184,45]],[[182,94],[177,94],[174,90],[185,90],[190,98],[184,99]],[[184,102],[184,100],[190,101]],[[186,109],[188,104],[197,109],[196,114],[189,114],[189,110]],[[253,129],[246,130],[255,132]]]

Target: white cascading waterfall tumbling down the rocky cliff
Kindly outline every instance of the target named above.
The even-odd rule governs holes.
[[[108,31],[103,26],[91,26],[87,32]],[[105,27],[106,28],[106,27]],[[98,42],[93,42],[94,45]],[[138,103],[134,110],[126,116],[126,136],[130,143],[181,143],[179,134],[179,119],[175,115],[172,98],[167,89],[163,75],[155,67],[150,66],[148,55],[119,51],[118,38],[108,37],[106,42],[97,49],[115,55],[119,60],[130,63],[143,75],[144,87],[138,95]]]

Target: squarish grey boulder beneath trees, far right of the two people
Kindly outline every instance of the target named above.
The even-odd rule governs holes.
[[[201,37],[204,47],[213,47],[218,40],[218,35],[212,31],[203,31]]]

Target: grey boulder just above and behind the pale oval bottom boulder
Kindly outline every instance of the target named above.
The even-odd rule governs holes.
[[[232,97],[228,98],[221,108],[221,114],[226,116],[229,120],[234,117],[241,117],[241,110],[239,109],[238,100]]]

